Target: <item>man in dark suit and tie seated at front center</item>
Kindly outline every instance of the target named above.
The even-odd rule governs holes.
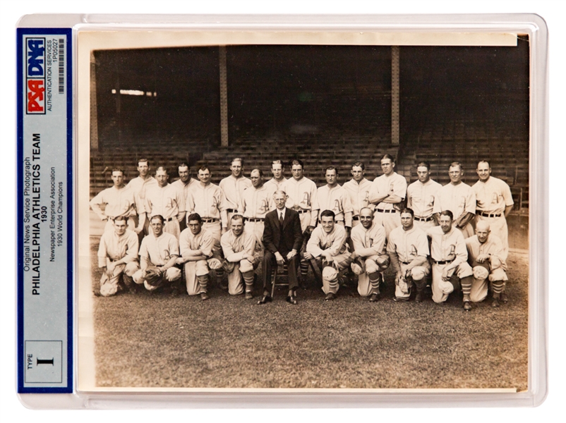
[[[289,269],[289,295],[287,302],[296,304],[297,268],[301,257],[298,252],[303,245],[303,233],[301,232],[301,219],[299,213],[285,207],[287,194],[277,190],[273,194],[275,210],[265,215],[265,226],[263,229],[263,297],[258,304],[265,304],[272,300],[270,293],[272,288],[271,274],[273,265],[282,266],[287,263]]]

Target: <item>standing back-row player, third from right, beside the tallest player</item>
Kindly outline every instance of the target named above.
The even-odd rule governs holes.
[[[426,233],[428,228],[438,225],[438,214],[434,214],[433,210],[442,185],[430,179],[428,161],[416,165],[416,175],[419,179],[407,187],[407,207],[414,211],[414,225]]]

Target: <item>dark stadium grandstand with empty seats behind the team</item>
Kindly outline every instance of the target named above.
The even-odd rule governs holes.
[[[171,168],[180,159],[207,161],[217,183],[229,173],[230,157],[269,174],[272,159],[299,155],[306,176],[323,183],[323,168],[333,164],[344,183],[357,159],[366,162],[368,178],[378,176],[388,152],[407,180],[424,159],[440,183],[454,160],[464,164],[464,182],[474,183],[476,163],[487,157],[493,175],[512,186],[517,208],[528,207],[524,39],[517,47],[400,47],[399,146],[391,143],[391,47],[226,51],[229,147],[220,141],[218,47],[95,51],[91,195],[109,185],[109,168],[136,176],[138,157]]]

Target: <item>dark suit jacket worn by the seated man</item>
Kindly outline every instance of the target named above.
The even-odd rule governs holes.
[[[275,209],[265,215],[264,223],[263,245],[267,250],[274,254],[279,251],[283,257],[286,257],[291,250],[297,252],[301,250],[303,233],[299,213],[285,208],[285,219],[283,219],[283,228],[281,228],[279,214]]]

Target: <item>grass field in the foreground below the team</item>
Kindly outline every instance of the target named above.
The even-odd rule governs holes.
[[[91,252],[97,243],[92,241]],[[99,274],[92,254],[92,286]],[[527,387],[528,262],[507,261],[510,302],[464,312],[461,294],[444,305],[382,300],[354,288],[325,302],[299,290],[299,305],[231,297],[210,300],[168,291],[94,298],[96,384],[100,387],[207,388],[517,388]]]

